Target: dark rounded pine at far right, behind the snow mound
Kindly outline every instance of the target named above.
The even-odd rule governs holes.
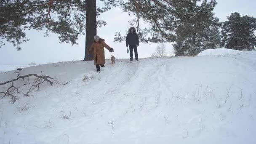
[[[225,48],[235,50],[255,50],[256,19],[249,16],[240,16],[240,13],[232,13],[227,17],[228,21],[222,24],[221,36]]]

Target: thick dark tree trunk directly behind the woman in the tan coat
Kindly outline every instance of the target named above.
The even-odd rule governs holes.
[[[86,4],[86,34],[85,34],[85,58],[84,61],[93,60],[93,53],[88,56],[94,36],[97,35],[97,21],[96,21],[96,0],[85,0]]]

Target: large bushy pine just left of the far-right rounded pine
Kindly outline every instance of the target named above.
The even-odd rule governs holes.
[[[216,48],[220,45],[219,19],[212,11],[217,4],[215,0],[201,5],[195,1],[184,0],[176,7],[178,14],[176,44],[173,45],[176,56],[195,56],[200,51]]]

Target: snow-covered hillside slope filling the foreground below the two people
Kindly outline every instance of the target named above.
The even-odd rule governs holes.
[[[0,143],[256,144],[255,51],[106,62],[101,73],[93,61],[23,69],[55,84],[24,97],[28,80],[15,83],[19,101],[0,100]]]

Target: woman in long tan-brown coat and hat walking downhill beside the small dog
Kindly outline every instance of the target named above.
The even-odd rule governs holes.
[[[93,64],[96,65],[97,72],[101,69],[99,66],[104,67],[105,64],[105,53],[104,47],[109,50],[109,52],[114,52],[113,48],[110,48],[104,39],[101,39],[98,35],[94,36],[94,42],[91,45],[91,48],[88,51],[88,54],[94,53]]]

